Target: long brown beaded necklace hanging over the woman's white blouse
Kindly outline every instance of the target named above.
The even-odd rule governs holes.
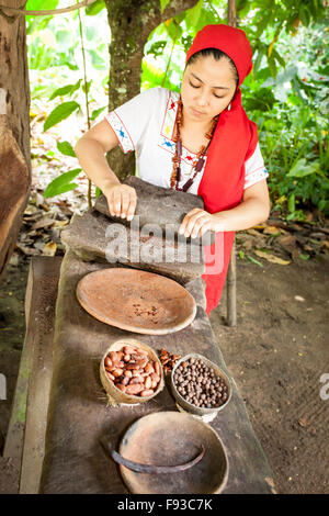
[[[174,156],[172,158],[173,167],[172,167],[172,173],[170,178],[170,188],[175,189],[178,191],[186,192],[189,188],[193,184],[193,181],[196,177],[196,175],[202,170],[204,162],[205,162],[205,156],[208,149],[208,146],[211,145],[212,137],[218,121],[218,116],[215,116],[213,120],[213,124],[211,127],[211,131],[205,133],[205,137],[209,141],[207,145],[202,145],[200,148],[198,153],[196,154],[196,159],[193,162],[192,166],[192,172],[194,169],[193,176],[183,184],[182,187],[179,186],[181,181],[181,157],[182,157],[182,139],[181,139],[181,127],[182,127],[182,122],[183,122],[183,103],[181,98],[178,101],[178,112],[177,112],[177,131],[175,131],[175,136],[173,141],[175,142],[175,152]]]

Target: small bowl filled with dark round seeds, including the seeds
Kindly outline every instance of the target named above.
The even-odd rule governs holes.
[[[231,397],[231,384],[225,372],[206,357],[190,354],[171,371],[171,390],[178,404],[200,416],[222,411]]]

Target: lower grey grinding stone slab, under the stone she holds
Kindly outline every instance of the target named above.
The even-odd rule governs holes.
[[[97,210],[75,215],[61,232],[63,242],[86,261],[124,265],[186,283],[204,271],[202,246],[179,237],[164,239],[139,227],[110,221]]]

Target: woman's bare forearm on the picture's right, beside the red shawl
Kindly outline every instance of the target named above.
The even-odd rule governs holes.
[[[250,198],[231,210],[214,213],[216,231],[249,229],[266,221],[269,214],[270,202],[258,198]]]

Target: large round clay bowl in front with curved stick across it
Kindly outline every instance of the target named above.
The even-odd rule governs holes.
[[[219,493],[228,476],[224,446],[209,425],[191,414],[157,412],[137,419],[123,437],[118,451],[135,462],[177,465],[195,457],[202,445],[204,457],[185,471],[149,474],[120,465],[123,480],[134,494]]]

